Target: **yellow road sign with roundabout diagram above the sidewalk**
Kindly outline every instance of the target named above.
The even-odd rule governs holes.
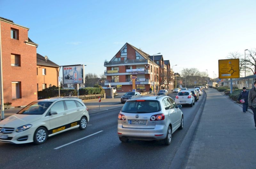
[[[219,60],[219,78],[239,78],[239,59]]]

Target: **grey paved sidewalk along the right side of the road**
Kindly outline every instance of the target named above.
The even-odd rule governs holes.
[[[215,89],[206,102],[183,163],[186,169],[256,168],[253,114]],[[251,110],[250,110],[251,111]]]

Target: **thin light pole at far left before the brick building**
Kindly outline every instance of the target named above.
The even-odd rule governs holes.
[[[3,86],[3,64],[2,64],[2,44],[1,44],[1,20],[0,20],[0,90],[1,90],[1,119],[4,119],[4,86]]]

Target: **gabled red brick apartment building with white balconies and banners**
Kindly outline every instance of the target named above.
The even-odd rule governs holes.
[[[163,55],[148,55],[129,43],[125,43],[109,62],[104,62],[104,66],[107,68],[105,86],[116,87],[117,92],[132,91],[132,76],[136,77],[139,92],[149,91],[149,88],[155,88],[156,92],[163,88],[171,90],[173,87],[172,80],[167,78],[172,72],[169,60],[164,61]]]

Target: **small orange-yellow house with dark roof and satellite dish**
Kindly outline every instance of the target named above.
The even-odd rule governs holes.
[[[60,66],[40,54],[36,54],[37,91],[58,86]]]

